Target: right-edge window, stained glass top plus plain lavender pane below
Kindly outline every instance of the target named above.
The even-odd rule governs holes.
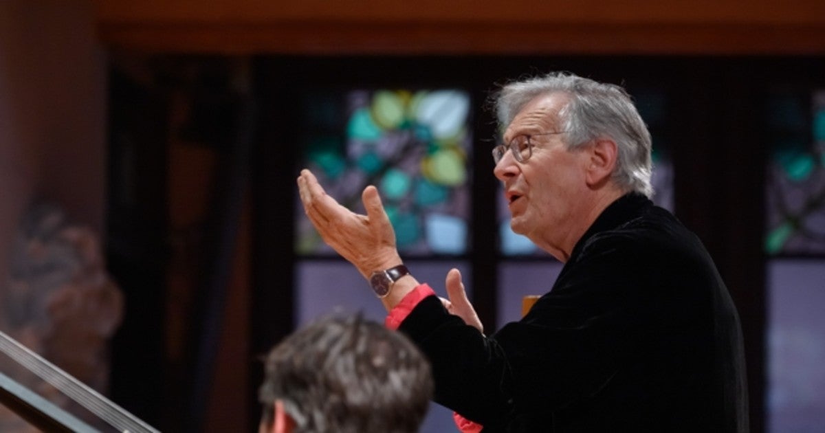
[[[766,112],[767,431],[825,422],[825,91],[773,92]]]

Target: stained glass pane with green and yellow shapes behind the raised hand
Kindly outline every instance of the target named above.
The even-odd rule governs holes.
[[[363,212],[361,192],[375,185],[407,257],[461,255],[468,248],[469,93],[358,90],[304,98],[301,167],[309,167],[342,205]],[[332,255],[298,212],[295,251]]]

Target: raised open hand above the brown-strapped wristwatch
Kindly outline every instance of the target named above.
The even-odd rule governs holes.
[[[401,263],[393,226],[375,186],[367,186],[361,194],[366,215],[338,204],[309,170],[301,170],[298,191],[304,212],[324,242],[356,266],[365,278],[373,271]]]

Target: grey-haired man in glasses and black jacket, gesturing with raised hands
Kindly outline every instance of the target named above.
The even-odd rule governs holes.
[[[298,178],[318,232],[431,360],[436,402],[485,432],[747,431],[738,314],[700,240],[648,199],[650,135],[629,96],[551,73],[508,84],[496,105],[512,229],[564,267],[492,336],[458,271],[446,300],[403,266],[375,187],[360,215]]]

